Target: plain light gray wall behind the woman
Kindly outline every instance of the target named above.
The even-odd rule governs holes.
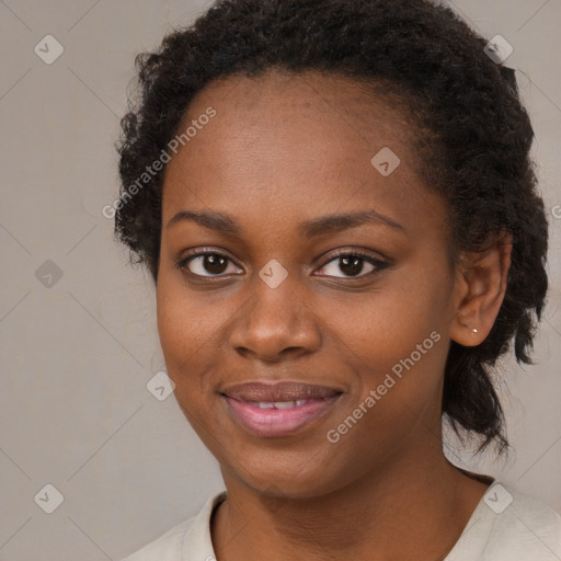
[[[0,1],[2,561],[117,560],[222,489],[173,394],[158,401],[146,388],[164,369],[154,291],[101,213],[117,192],[113,142],[135,54],[209,4]],[[518,70],[536,131],[551,291],[537,365],[502,362],[513,456],[474,461],[454,442],[448,454],[561,511],[561,1],[450,4],[514,46],[505,65]],[[65,49],[50,65],[34,51],[47,34]],[[46,484],[64,496],[53,514],[39,507],[54,501]]]

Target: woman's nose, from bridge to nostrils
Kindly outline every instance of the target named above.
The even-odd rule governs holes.
[[[319,318],[306,304],[304,289],[290,275],[276,288],[260,277],[249,287],[252,293],[239,311],[229,343],[244,357],[278,362],[297,357],[321,345]]]

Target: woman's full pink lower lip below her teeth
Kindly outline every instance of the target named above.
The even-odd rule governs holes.
[[[285,436],[295,433],[333,407],[341,394],[308,401],[288,409],[261,409],[224,396],[228,409],[243,427],[257,436]]]

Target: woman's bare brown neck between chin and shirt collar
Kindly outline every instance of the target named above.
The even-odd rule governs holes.
[[[316,497],[266,496],[225,476],[211,523],[219,561],[444,559],[488,484],[439,454],[392,463]]]

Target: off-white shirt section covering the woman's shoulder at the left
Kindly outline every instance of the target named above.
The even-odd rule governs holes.
[[[183,561],[192,556],[202,561],[210,559],[214,556],[210,516],[224,496],[224,492],[211,496],[198,514],[181,522],[121,561]]]

